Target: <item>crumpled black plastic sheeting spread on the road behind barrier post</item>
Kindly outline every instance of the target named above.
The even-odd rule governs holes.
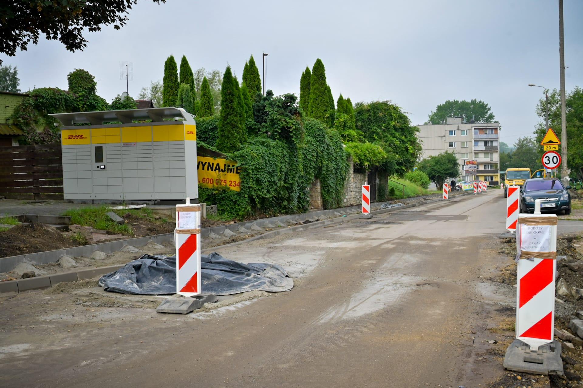
[[[270,293],[293,288],[293,280],[282,266],[243,264],[217,252],[201,255],[202,293],[230,295],[251,290]],[[163,295],[176,293],[176,257],[143,255],[115,272],[99,278],[106,291],[122,294]]]

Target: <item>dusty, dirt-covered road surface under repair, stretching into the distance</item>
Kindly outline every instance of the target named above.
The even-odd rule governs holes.
[[[503,373],[488,329],[514,304],[489,280],[508,264],[504,209],[490,190],[219,249],[280,263],[295,287],[205,313],[3,300],[0,385],[485,386]]]

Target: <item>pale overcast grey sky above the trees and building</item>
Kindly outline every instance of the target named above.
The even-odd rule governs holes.
[[[566,90],[583,87],[583,1],[564,1]],[[120,60],[133,63],[129,94],[161,80],[164,60],[182,54],[192,69],[224,70],[240,77],[254,55],[276,95],[299,92],[301,72],[316,58],[328,83],[353,102],[389,99],[422,124],[447,99],[490,104],[513,144],[532,133],[541,88],[559,88],[559,11],[556,0],[500,1],[199,1],[139,0],[121,30],[87,33],[85,51],[58,41],[1,55],[19,69],[23,91],[67,88],[73,69],[89,71],[101,97],[125,91]]]

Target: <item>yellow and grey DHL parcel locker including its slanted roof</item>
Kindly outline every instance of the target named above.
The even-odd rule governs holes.
[[[196,122],[184,109],[51,116],[63,124],[65,200],[155,203],[198,198]],[[151,122],[139,122],[146,120]]]

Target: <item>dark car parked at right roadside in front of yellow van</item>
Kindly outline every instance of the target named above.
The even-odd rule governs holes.
[[[535,200],[543,200],[541,213],[571,214],[571,186],[564,187],[557,178],[527,179],[521,187],[520,212],[534,213]]]

